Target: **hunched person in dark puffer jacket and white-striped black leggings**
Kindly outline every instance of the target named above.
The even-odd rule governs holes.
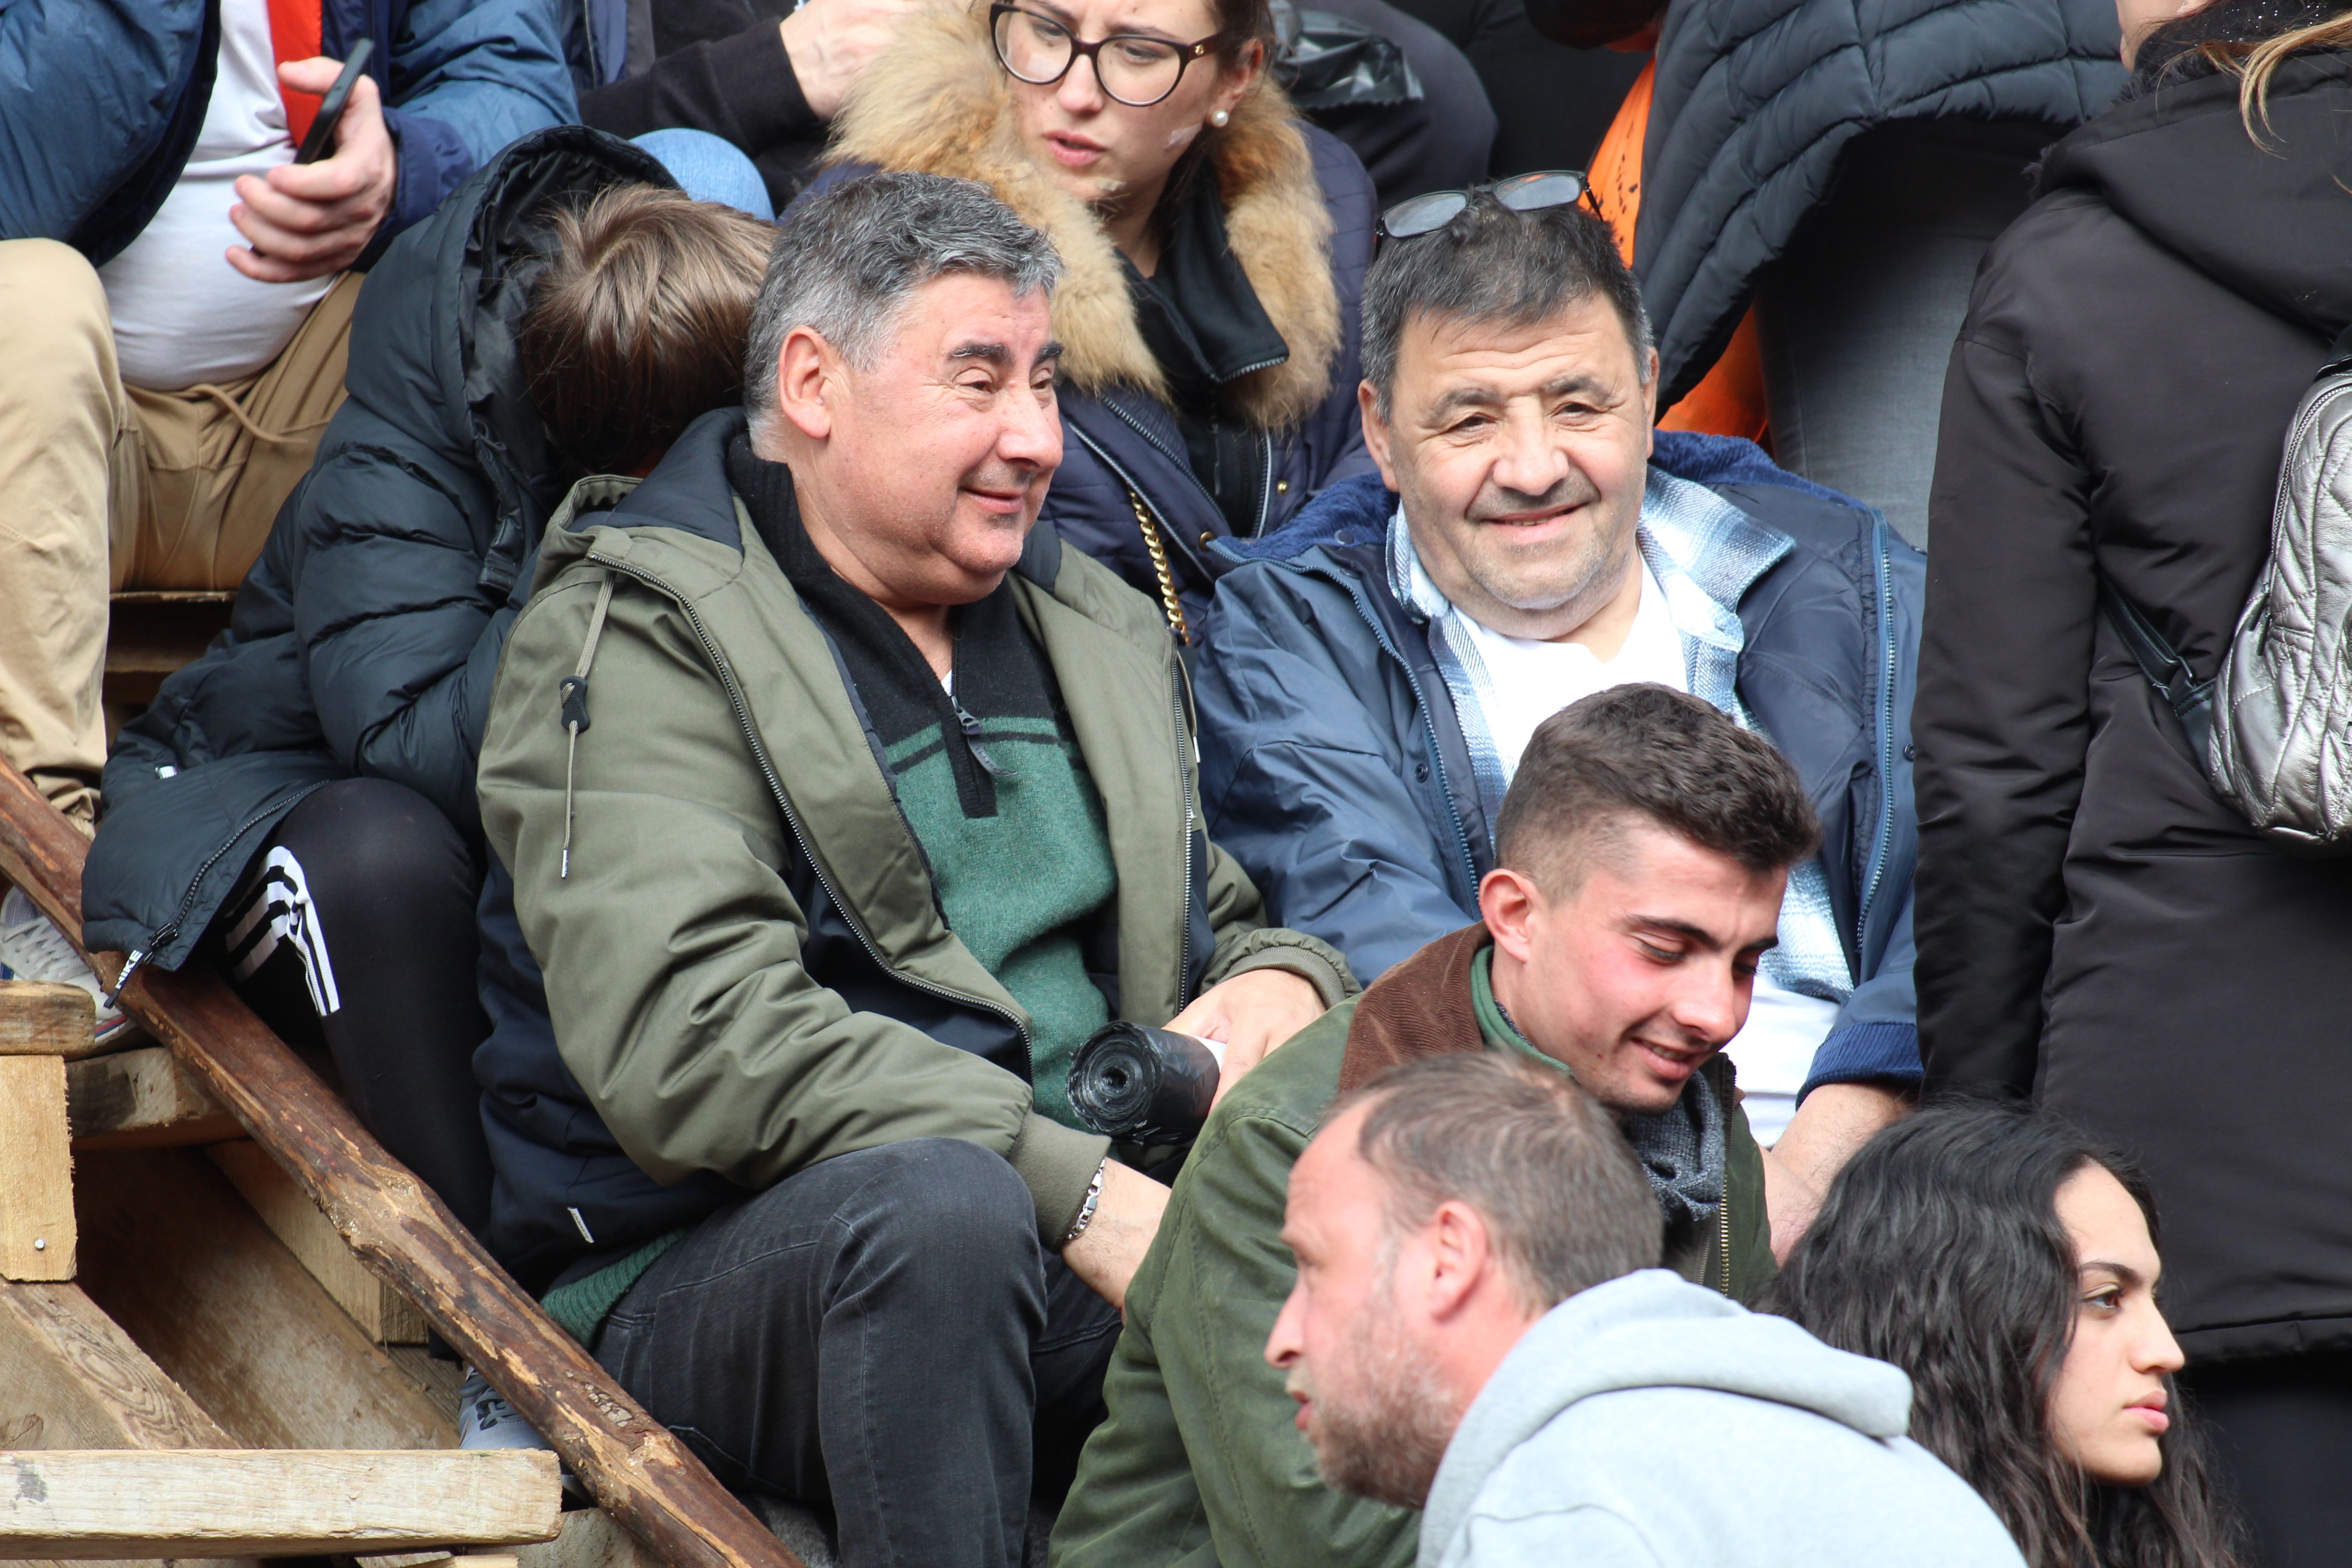
[[[640,216],[666,235],[654,261],[670,296],[734,301],[734,313],[710,313],[696,386],[677,381],[677,355],[670,381],[659,367],[626,374],[675,341],[661,320],[607,331],[637,346],[619,369],[595,343],[555,343],[543,360],[604,367],[612,381],[597,402],[553,378],[543,423],[517,339],[569,320],[527,313],[534,301],[569,299],[579,273],[628,249],[604,223],[604,249],[581,254],[612,200],[600,193],[666,200]],[[682,230],[720,263],[687,266]],[[649,465],[694,414],[741,397],[767,235],[687,202],[654,158],[583,127],[527,136],[477,172],[369,275],[350,400],[278,515],[230,630],[165,682],[106,764],[82,877],[89,945],[162,969],[223,966],[270,1027],[334,1058],[360,1119],[473,1227],[489,1213],[473,1079],[489,1032],[475,997],[473,797],[489,682],[572,480],[588,465]],[[564,287],[539,289],[543,275]],[[691,407],[663,423],[668,402]]]

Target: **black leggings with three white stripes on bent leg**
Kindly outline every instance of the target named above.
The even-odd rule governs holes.
[[[278,825],[212,924],[216,961],[294,1046],[325,1051],[360,1121],[468,1227],[489,1218],[473,1048],[477,851],[383,778],[332,783]]]

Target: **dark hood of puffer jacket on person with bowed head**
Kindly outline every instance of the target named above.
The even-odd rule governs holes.
[[[513,583],[567,475],[522,381],[515,334],[548,266],[550,202],[619,183],[675,188],[642,148],[583,125],[534,132],[475,172],[369,275],[346,388],[496,494],[482,583]]]

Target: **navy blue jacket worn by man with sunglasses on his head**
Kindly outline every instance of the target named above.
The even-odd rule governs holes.
[[[1750,442],[1658,433],[1656,473],[1755,524],[1748,567],[1708,562],[1736,599],[1738,701],[1820,811],[1820,872],[1853,992],[1806,1088],[1919,1077],[1912,994],[1910,708],[1924,557],[1886,522],[1773,468]],[[1397,496],[1364,477],[1296,522],[1223,545],[1251,564],[1216,590],[1195,672],[1209,835],[1369,985],[1479,917],[1494,832],[1430,623],[1390,590]],[[1783,548],[1785,541],[1785,548]],[[1710,592],[1710,597],[1715,597]]]

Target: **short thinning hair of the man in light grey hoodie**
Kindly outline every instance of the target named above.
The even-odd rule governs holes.
[[[1531,1312],[1658,1262],[1649,1178],[1616,1117],[1564,1070],[1496,1051],[1428,1056],[1341,1098],[1324,1124],[1364,1103],[1355,1152],[1388,1182],[1392,1237],[1468,1204]]]

